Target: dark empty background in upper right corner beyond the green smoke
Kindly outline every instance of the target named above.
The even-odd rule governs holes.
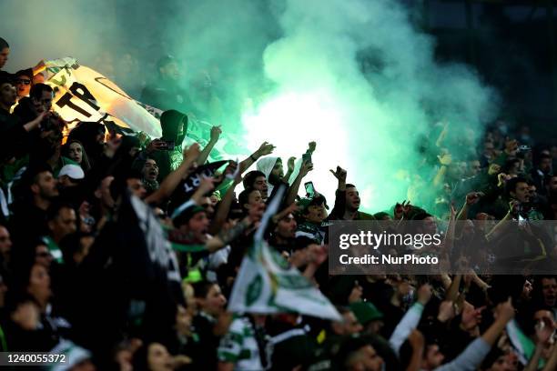
[[[439,61],[465,62],[501,94],[501,115],[554,136],[557,119],[552,0],[403,0],[417,28],[435,37]]]

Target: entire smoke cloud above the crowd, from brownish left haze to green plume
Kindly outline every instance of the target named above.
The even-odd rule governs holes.
[[[433,124],[451,123],[445,145],[463,158],[496,115],[491,89],[465,65],[436,62],[435,40],[396,0],[38,3],[29,2],[43,10],[29,13],[7,2],[5,37],[15,56],[8,70],[18,59],[25,67],[74,55],[140,91],[158,57],[176,55],[196,105],[242,139],[232,152],[267,140],[286,160],[316,140],[308,180],[329,203],[336,165],[348,169],[367,210],[406,199],[418,179],[428,189],[438,152]],[[38,28],[17,23],[22,14],[28,25],[47,22],[56,32],[37,37]],[[138,56],[140,72],[117,68],[127,52]],[[96,64],[106,54],[116,68]]]

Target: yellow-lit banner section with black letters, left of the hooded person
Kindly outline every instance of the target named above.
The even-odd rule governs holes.
[[[54,110],[70,128],[79,121],[95,121],[126,131],[142,131],[160,137],[157,118],[138,105],[116,84],[95,70],[66,57],[46,62],[46,81],[55,90]],[[114,123],[114,124],[112,124]]]

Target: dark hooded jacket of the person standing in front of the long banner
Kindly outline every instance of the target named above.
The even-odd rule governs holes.
[[[184,128],[180,133],[179,126],[181,123],[184,123]],[[166,142],[174,142],[175,145],[171,151],[157,151],[150,155],[157,161],[158,181],[162,182],[172,172],[173,160],[178,161],[182,155],[182,142],[187,132],[187,115],[174,109],[165,111],[160,116],[160,126],[163,133],[160,139]]]

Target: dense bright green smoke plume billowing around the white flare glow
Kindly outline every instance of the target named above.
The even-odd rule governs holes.
[[[436,63],[433,40],[395,1],[287,1],[279,24],[282,37],[264,53],[266,75],[278,87],[248,121],[248,134],[268,135],[284,155],[316,139],[317,174],[309,177],[328,196],[336,186],[328,169],[341,165],[365,208],[406,199],[412,172],[426,181],[433,174],[422,165],[433,151],[419,150],[436,139],[431,124],[451,122],[458,158],[494,113],[491,90],[463,65]],[[297,97],[286,100],[291,109],[284,96]]]

